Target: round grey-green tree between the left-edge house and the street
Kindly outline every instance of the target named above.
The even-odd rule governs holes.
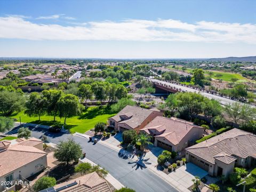
[[[57,158],[59,162],[65,162],[67,165],[71,161],[78,162],[82,155],[82,147],[73,139],[60,141],[57,145],[57,149],[54,151],[54,157]]]

